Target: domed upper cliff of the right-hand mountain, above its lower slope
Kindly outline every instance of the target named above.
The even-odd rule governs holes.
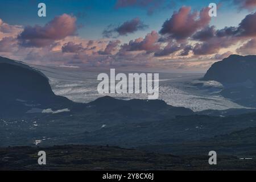
[[[230,55],[214,63],[202,80],[215,80],[222,84],[251,81],[256,84],[256,56]]]

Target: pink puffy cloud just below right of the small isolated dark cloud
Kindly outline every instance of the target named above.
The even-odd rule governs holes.
[[[147,53],[158,51],[160,45],[158,44],[159,35],[156,31],[147,34],[145,38],[138,38],[130,40],[129,44],[123,44],[121,51],[146,51]]]

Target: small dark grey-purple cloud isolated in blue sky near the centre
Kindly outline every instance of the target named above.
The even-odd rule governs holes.
[[[147,27],[148,26],[144,24],[139,18],[134,18],[124,22],[123,24],[115,28],[111,28],[111,26],[109,26],[103,31],[102,34],[106,38],[112,37],[114,33],[117,33],[118,36],[123,36],[127,34],[132,34],[138,30],[144,30]]]

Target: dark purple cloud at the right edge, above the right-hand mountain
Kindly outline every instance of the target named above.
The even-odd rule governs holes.
[[[221,30],[215,30],[215,27],[212,26],[196,32],[192,39],[199,41],[199,43],[196,43],[192,50],[195,55],[210,55],[218,53],[221,48],[228,48],[255,36],[256,13],[253,13],[246,15],[237,27],[225,27]],[[250,43],[252,44],[253,42]],[[237,51],[246,52],[245,48],[249,49],[249,47],[245,46],[237,49]],[[251,49],[249,52],[252,52]]]

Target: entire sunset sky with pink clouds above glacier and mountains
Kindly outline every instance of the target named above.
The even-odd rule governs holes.
[[[45,3],[46,17],[38,16]],[[210,17],[210,3],[217,16]],[[29,64],[205,72],[256,54],[256,0],[0,1],[0,56]]]

